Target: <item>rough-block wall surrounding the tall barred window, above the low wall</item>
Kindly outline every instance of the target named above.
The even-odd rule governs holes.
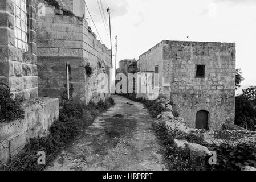
[[[14,97],[25,99],[38,96],[37,46],[36,46],[36,3],[27,1],[29,15],[29,51],[15,47],[14,2],[0,2],[0,82],[10,86]]]

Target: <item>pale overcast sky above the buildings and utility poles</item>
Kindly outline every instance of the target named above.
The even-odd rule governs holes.
[[[242,85],[256,85],[256,0],[102,0],[110,7],[112,46],[117,61],[138,59],[161,40],[235,42]],[[103,43],[110,48],[96,0],[87,6]],[[94,16],[96,15],[96,16]],[[108,14],[106,13],[108,18]],[[92,30],[95,27],[88,19]],[[96,32],[96,31],[95,31]],[[99,37],[99,36],[98,36]],[[99,38],[98,38],[99,39]],[[113,57],[113,60],[114,57]],[[115,68],[115,65],[113,66]]]

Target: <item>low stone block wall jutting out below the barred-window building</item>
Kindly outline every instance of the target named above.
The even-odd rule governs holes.
[[[55,119],[59,118],[59,100],[38,97],[23,103],[24,119],[0,123],[0,161],[7,164],[29,142],[45,137]],[[0,167],[2,166],[0,163]]]

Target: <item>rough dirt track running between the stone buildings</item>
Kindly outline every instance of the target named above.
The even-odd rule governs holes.
[[[115,106],[101,113],[46,170],[166,170],[148,110],[112,97]]]

